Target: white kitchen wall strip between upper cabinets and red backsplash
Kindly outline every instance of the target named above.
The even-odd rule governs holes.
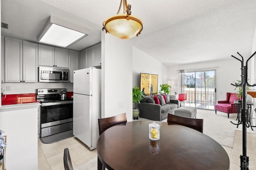
[[[6,90],[10,86],[10,91],[4,91],[5,94],[25,94],[36,93],[39,88],[66,88],[68,92],[73,92],[73,83],[2,83],[1,89]]]

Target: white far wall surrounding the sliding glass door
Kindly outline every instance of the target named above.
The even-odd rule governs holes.
[[[226,92],[234,93],[234,86],[230,85],[233,81],[241,80],[241,63],[232,58],[229,60],[211,61],[197,64],[186,64],[179,66],[170,66],[168,68],[169,79],[175,81],[172,86],[172,92],[178,92],[178,73],[177,70],[216,70],[216,101],[226,100]]]

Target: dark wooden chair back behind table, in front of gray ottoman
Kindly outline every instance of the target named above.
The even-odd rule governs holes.
[[[178,124],[186,127],[190,127],[203,133],[203,122],[204,119],[194,119],[189,117],[181,117],[168,113],[167,116],[168,125]]]

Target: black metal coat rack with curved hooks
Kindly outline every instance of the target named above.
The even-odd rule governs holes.
[[[240,55],[238,52],[237,54],[242,57],[242,55]],[[242,57],[242,60],[234,57],[233,55],[231,55],[232,57],[234,57],[235,59],[237,59],[238,61],[241,62],[241,82],[240,84],[235,83],[235,84],[231,84],[233,86],[242,86],[243,88],[243,93],[242,93],[242,109],[241,109],[241,122],[233,123],[232,121],[230,121],[231,123],[233,123],[234,125],[240,125],[242,124],[242,135],[243,135],[243,154],[240,155],[240,168],[241,170],[249,170],[249,156],[246,155],[246,128],[249,127],[256,127],[256,126],[252,126],[251,122],[250,122],[250,117],[249,117],[249,113],[248,113],[248,109],[246,109],[246,105],[247,105],[247,86],[256,86],[256,84],[250,85],[248,83],[248,61],[256,54],[256,51],[251,55],[251,57],[246,60],[246,65],[244,66],[244,58]]]

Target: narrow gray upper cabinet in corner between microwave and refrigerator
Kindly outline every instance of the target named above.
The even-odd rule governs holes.
[[[69,50],[69,59],[70,59],[70,76],[69,76],[69,81],[73,82],[74,81],[74,76],[73,76],[73,72],[74,70],[79,70],[80,69],[80,57],[79,57],[80,53],[78,51],[73,51],[73,50]]]

